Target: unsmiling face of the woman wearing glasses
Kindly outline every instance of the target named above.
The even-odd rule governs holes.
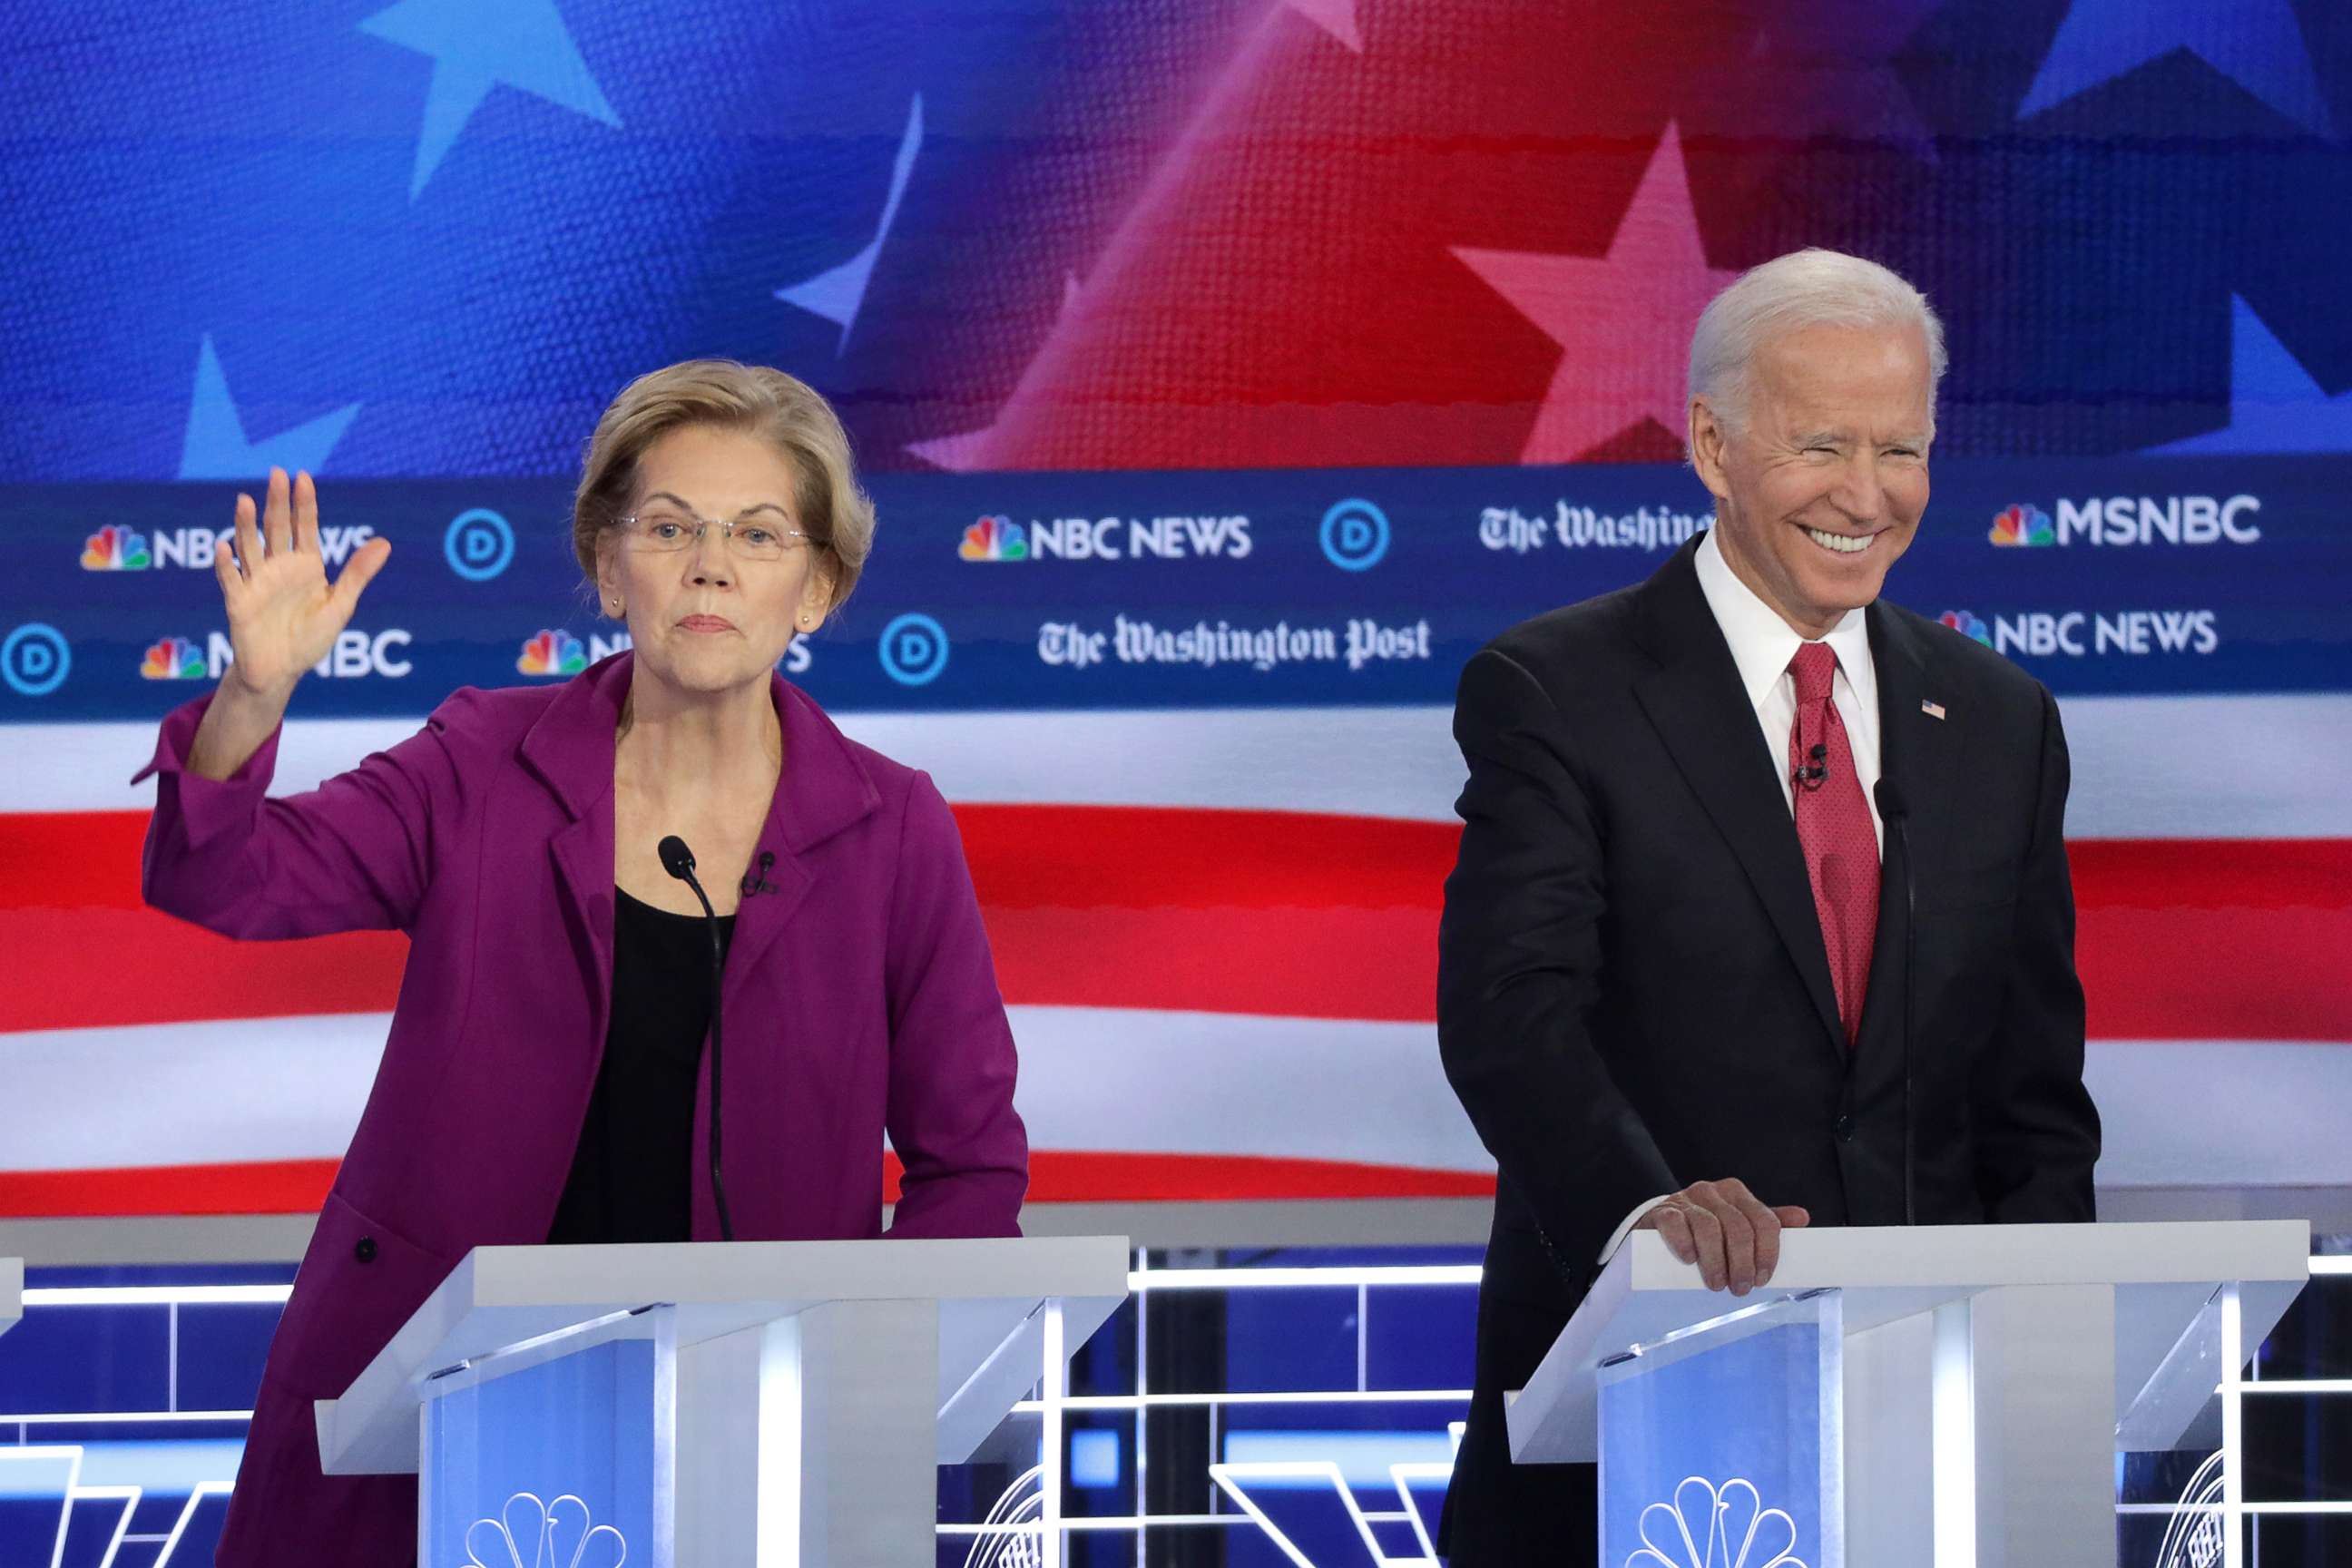
[[[675,510],[736,520],[739,531],[809,529],[797,515],[793,461],[743,430],[682,425],[637,458],[635,512]],[[682,691],[767,682],[795,635],[814,632],[830,607],[826,552],[788,541],[779,559],[746,559],[703,529],[682,550],[652,550],[623,529],[597,541],[604,614],[628,621],[640,677]]]

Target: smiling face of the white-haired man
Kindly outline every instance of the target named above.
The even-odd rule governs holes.
[[[1879,597],[1926,510],[1929,360],[1917,327],[1804,327],[1748,367],[1729,430],[1691,402],[1691,463],[1731,571],[1802,637]]]

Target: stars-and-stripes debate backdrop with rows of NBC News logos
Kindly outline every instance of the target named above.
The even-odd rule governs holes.
[[[621,646],[569,482],[691,355],[854,433],[786,672],[957,806],[1035,1197],[1491,1190],[1454,679],[1703,522],[1797,244],[1950,327],[1889,592],[2063,703],[2103,1180],[2352,1182],[2347,132],[2326,0],[5,0],[0,1213],[308,1208],[381,1048],[402,938],[139,905],[235,489],[395,543],[294,790]]]

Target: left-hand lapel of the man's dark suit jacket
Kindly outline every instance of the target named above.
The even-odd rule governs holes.
[[[1776,783],[1783,764],[1757,731],[1755,708],[1731,663],[1731,646],[1698,590],[1691,555],[1693,548],[1684,545],[1642,588],[1644,642],[1661,668],[1635,682],[1635,698],[1738,856],[1813,997],[1825,1044],[1844,1060],[1846,1030],[1837,1020],[1837,990],[1830,985],[1830,954],[1813,912],[1813,884],[1797,844],[1797,823]]]

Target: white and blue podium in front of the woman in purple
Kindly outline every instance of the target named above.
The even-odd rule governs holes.
[[[1127,1298],[1124,1237],[482,1246],[341,1399],[419,1563],[906,1568],[936,1465]]]

